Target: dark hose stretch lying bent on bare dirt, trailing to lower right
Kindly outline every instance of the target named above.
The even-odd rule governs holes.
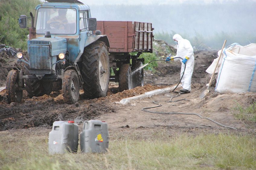
[[[153,101],[153,103],[154,103],[154,104],[158,104],[158,103],[156,103],[156,101]],[[233,127],[231,127],[231,126],[222,125],[222,124],[220,124],[219,122],[216,122],[216,121],[215,121],[215,120],[213,120],[213,119],[210,119],[210,118],[208,118],[208,117],[203,117],[203,116],[201,116],[201,115],[199,115],[199,114],[197,114],[197,113],[155,112],[155,111],[147,110],[147,109],[153,109],[153,108],[161,107],[161,106],[162,106],[162,104],[158,104],[158,106],[145,107],[145,108],[142,108],[141,110],[142,110],[142,111],[149,112],[149,113],[158,113],[158,114],[196,115],[196,116],[200,117],[201,119],[207,119],[207,120],[210,120],[210,121],[212,121],[212,122],[216,123],[217,125],[220,125],[220,126],[222,126],[222,127],[224,127],[224,128],[231,128],[231,129],[237,130],[236,128],[233,128]]]

